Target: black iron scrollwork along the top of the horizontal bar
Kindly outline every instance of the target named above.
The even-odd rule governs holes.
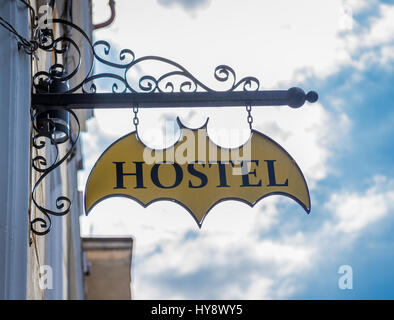
[[[94,81],[98,79],[114,80],[112,84],[113,93],[196,91],[217,92],[217,90],[212,89],[211,87],[198,80],[186,68],[170,59],[159,56],[143,56],[140,58],[136,58],[132,50],[123,49],[120,51],[118,57],[120,62],[115,63],[108,59],[111,54],[111,45],[107,41],[99,40],[92,44],[88,35],[81,28],[66,20],[53,19],[48,22],[48,25],[50,24],[61,24],[66,29],[71,28],[74,31],[79,32],[83,39],[86,40],[87,48],[91,50],[92,54],[92,59],[89,62],[89,66],[85,68],[85,70],[88,70],[87,74],[82,81],[70,88],[66,93],[76,92],[79,89],[82,89],[82,92],[84,93],[96,93],[97,86]],[[55,61],[55,63],[50,67],[48,71],[38,71],[33,76],[33,86],[36,92],[44,93],[45,90],[43,91],[41,87],[41,83],[43,80],[65,82],[69,81],[78,74],[82,63],[82,54],[77,43],[69,36],[63,35],[54,38],[53,32],[49,28],[37,29],[35,34],[36,41],[38,42],[38,48],[47,52],[53,52],[55,54],[55,58],[59,54],[64,54],[66,49],[68,50],[71,47],[74,48],[78,56],[77,65],[73,70],[69,72],[64,72],[66,71],[65,66]],[[101,56],[99,53],[100,48],[102,48],[101,51],[103,52],[103,56]],[[106,65],[110,68],[115,68],[120,71],[121,74],[111,72],[92,74],[94,62],[102,63],[103,65]],[[144,62],[159,62],[163,64],[164,67],[169,67],[172,70],[164,72],[163,74],[158,76],[154,76],[152,74],[143,74],[137,79],[133,78],[132,83],[129,80],[131,78],[129,76],[129,73],[131,73],[134,69],[139,68],[139,66]],[[57,76],[54,72],[55,70],[62,71],[63,75]],[[141,68],[139,68],[139,70],[141,70]],[[214,70],[214,77],[218,82],[228,84],[225,90],[220,91],[236,91],[240,89],[244,91],[257,91],[260,87],[260,82],[255,77],[244,77],[240,80],[237,80],[234,69],[227,65],[217,66]],[[178,81],[173,80],[175,78],[178,78]],[[137,84],[137,87],[133,85],[134,83]],[[119,88],[120,85],[122,86],[121,89]]]

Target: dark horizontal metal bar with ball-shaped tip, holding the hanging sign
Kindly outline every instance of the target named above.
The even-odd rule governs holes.
[[[34,109],[112,109],[131,108],[200,108],[245,106],[301,107],[305,101],[317,101],[317,93],[300,88],[273,91],[176,92],[176,93],[72,93],[33,94]]]

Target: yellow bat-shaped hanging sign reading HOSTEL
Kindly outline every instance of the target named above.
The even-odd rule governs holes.
[[[221,148],[199,129],[181,128],[180,139],[167,149],[145,146],[132,132],[115,141],[93,167],[85,190],[86,214],[101,200],[124,196],[142,206],[159,200],[182,205],[199,227],[223,200],[254,206],[279,194],[297,201],[307,213],[311,204],[305,178],[279,144],[252,130],[238,148]]]

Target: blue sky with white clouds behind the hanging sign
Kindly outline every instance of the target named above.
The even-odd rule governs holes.
[[[94,22],[104,21],[106,1],[93,5]],[[317,103],[299,109],[252,108],[253,128],[282,145],[303,171],[310,215],[281,196],[253,208],[224,201],[199,229],[175,203],[142,208],[111,198],[81,218],[85,236],[135,239],[133,298],[394,298],[393,1],[117,0],[115,22],[94,37],[111,43],[114,60],[124,48],[136,57],[166,57],[217,90],[213,71],[226,64],[238,79],[258,78],[261,90],[319,93]],[[162,70],[141,66],[130,81],[152,67]],[[99,84],[104,91],[111,86]],[[176,137],[163,141],[153,129],[177,116],[191,128],[209,117],[210,138],[222,146],[247,139],[218,134],[248,130],[241,107],[138,115],[141,140],[156,148]],[[101,153],[134,130],[132,118],[131,109],[95,110],[82,134],[81,190]],[[340,285],[341,266],[352,271],[351,289]]]

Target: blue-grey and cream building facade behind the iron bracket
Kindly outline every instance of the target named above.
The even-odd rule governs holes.
[[[40,23],[40,20],[35,22],[33,12],[41,20],[45,15],[52,15],[55,19],[71,21],[91,39],[90,0],[0,1],[0,16],[26,39],[32,37],[32,24]],[[60,35],[68,31],[54,28],[54,32]],[[78,35],[73,39],[82,50],[83,59],[89,59],[82,40]],[[56,161],[56,150],[50,141],[46,141],[43,148],[34,147],[32,76],[60,62],[72,70],[78,63],[76,52],[65,51],[55,57],[53,52],[37,50],[30,55],[18,48],[15,35],[0,27],[0,57],[0,164],[3,168],[0,180],[0,299],[83,299],[84,259],[79,228],[83,206],[77,184],[77,172],[83,167],[80,142],[67,161],[51,171],[38,186],[42,173],[32,167],[32,162],[45,168]],[[83,70],[83,64],[81,68],[81,75],[70,79],[70,86],[88,72]],[[81,131],[86,130],[86,120],[92,116],[92,111],[78,110],[76,113]],[[76,130],[75,123],[71,122],[71,130]],[[59,154],[65,154],[70,144],[59,144],[58,148]],[[37,156],[45,158],[47,163]],[[69,198],[72,203],[66,215],[51,216],[51,230],[46,235],[32,232],[31,221],[45,218],[32,202],[35,186],[35,200],[44,208],[59,209],[56,207],[59,196]],[[43,226],[41,220],[34,224],[37,229]]]

